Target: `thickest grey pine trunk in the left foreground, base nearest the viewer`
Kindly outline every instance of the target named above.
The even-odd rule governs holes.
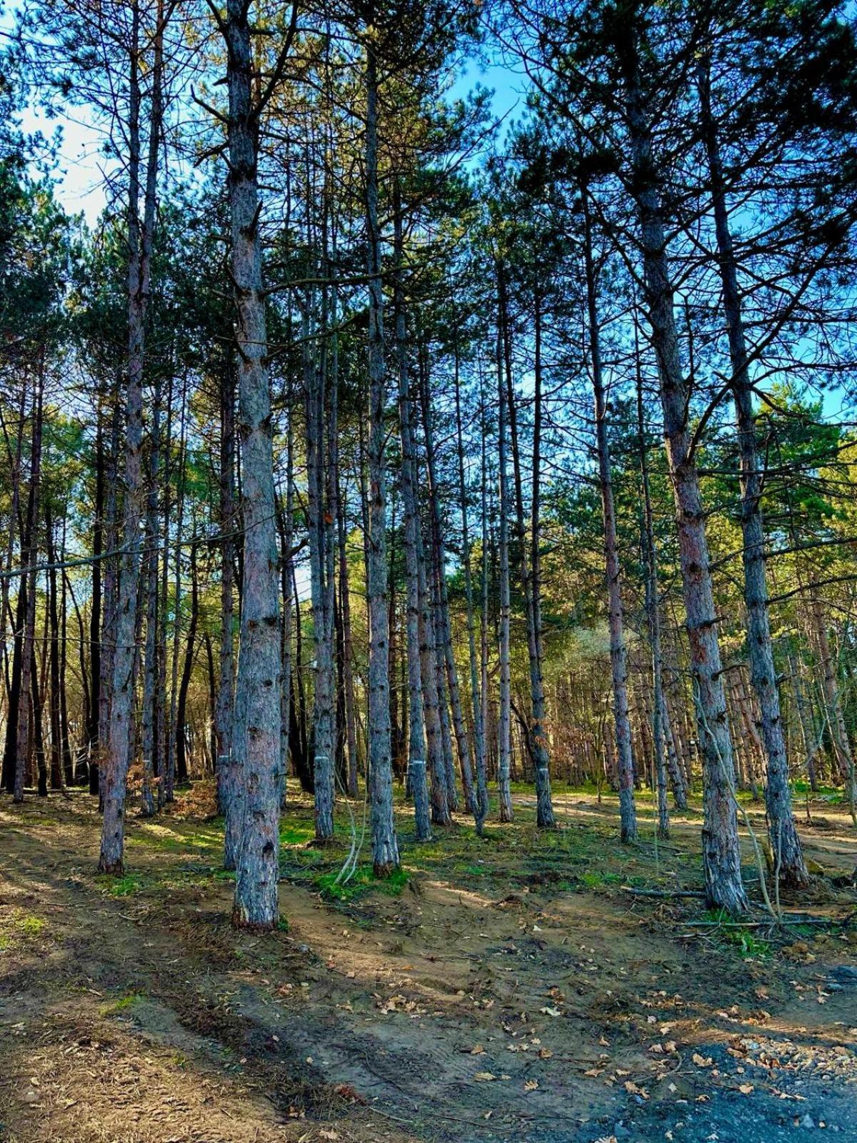
[[[265,932],[279,920],[280,616],[277,504],[267,328],[262,283],[258,107],[249,5],[229,0],[224,26],[229,87],[229,199],[238,347],[243,560],[232,750],[231,812],[241,821],[232,921]]]

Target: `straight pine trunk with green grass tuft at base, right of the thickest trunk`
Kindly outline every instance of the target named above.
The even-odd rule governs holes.
[[[373,868],[399,868],[393,822],[387,656],[386,474],[384,471],[384,294],[378,230],[378,71],[375,45],[366,46],[366,230],[369,273],[369,798]]]

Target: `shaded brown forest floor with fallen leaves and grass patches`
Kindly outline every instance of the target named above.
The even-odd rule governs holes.
[[[668,846],[650,814],[620,846],[611,798],[559,791],[538,834],[519,791],[513,825],[479,840],[460,817],[416,847],[401,806],[407,876],[382,889],[361,866],[343,890],[347,817],[319,850],[296,793],[288,924],[251,937],[230,927],[210,798],[129,818],[119,881],[95,872],[86,794],[0,802],[0,1140],[857,1141],[839,807],[811,806],[812,889],[772,928],[674,895],[702,884],[698,810]]]

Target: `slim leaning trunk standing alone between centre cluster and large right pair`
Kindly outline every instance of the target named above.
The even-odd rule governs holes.
[[[610,671],[612,676],[612,711],[616,734],[617,776],[619,782],[619,822],[623,841],[636,840],[636,808],[634,806],[634,753],[631,736],[631,719],[627,700],[627,653],[622,609],[622,583],[619,550],[616,538],[616,507],[612,494],[612,470],[610,466],[610,442],[607,435],[607,394],[601,369],[601,334],[598,318],[598,283],[592,249],[592,223],[588,209],[588,191],[582,189],[584,217],[584,263],[586,272],[586,306],[588,313],[590,362],[592,368],[592,392],[595,402],[595,441],[598,451],[599,489],[601,493],[601,515],[604,529],[604,566],[607,580],[607,614],[610,632]],[[655,703],[655,714],[660,718],[660,706]],[[658,726],[658,732],[659,732]],[[657,750],[660,734],[656,734]],[[658,772],[660,774],[660,770]],[[663,828],[663,822],[662,822]],[[667,826],[668,830],[668,826]]]

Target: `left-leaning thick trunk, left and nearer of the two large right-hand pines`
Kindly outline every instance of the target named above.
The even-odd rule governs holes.
[[[684,610],[690,646],[699,749],[703,759],[703,866],[708,904],[744,912],[735,765],[714,610],[705,512],[688,426],[689,387],[683,375],[670,279],[659,175],[651,151],[639,75],[636,29],[620,45],[634,197],[640,224],[646,304],[658,363],[670,477],[675,499]]]

